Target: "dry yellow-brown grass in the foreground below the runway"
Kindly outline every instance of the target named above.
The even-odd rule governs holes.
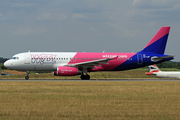
[[[0,82],[3,120],[176,120],[180,82]]]

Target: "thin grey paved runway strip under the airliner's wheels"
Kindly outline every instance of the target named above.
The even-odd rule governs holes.
[[[0,79],[0,81],[91,81],[91,82],[97,82],[97,81],[113,81],[113,82],[123,82],[123,81],[180,81],[180,79],[92,79],[92,80],[65,80],[65,79]]]

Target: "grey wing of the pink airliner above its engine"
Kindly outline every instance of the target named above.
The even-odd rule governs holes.
[[[100,64],[109,64],[108,63],[109,60],[116,59],[117,57],[114,57],[114,58],[104,58],[104,59],[92,60],[92,61],[75,63],[75,64],[68,64],[68,65],[65,65],[65,66],[77,67],[79,69],[95,68],[94,66],[101,66]]]

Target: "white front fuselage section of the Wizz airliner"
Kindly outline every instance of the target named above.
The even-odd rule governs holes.
[[[76,52],[26,52],[16,54],[5,65],[15,70],[55,71],[67,65]]]

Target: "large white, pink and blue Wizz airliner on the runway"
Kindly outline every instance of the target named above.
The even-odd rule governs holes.
[[[81,75],[82,80],[90,79],[90,72],[122,71],[161,63],[174,59],[165,55],[170,27],[162,27],[143,50],[137,53],[110,52],[24,52],[14,55],[4,63],[13,70],[53,71],[55,76]]]

